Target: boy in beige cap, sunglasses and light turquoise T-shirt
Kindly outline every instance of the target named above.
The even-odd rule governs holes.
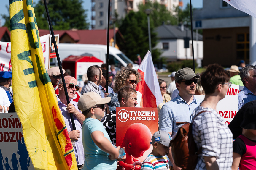
[[[86,169],[117,169],[120,146],[115,148],[100,120],[111,97],[101,98],[96,92],[87,92],[78,101],[78,108],[85,115],[82,126]],[[124,160],[118,159],[119,161]]]

